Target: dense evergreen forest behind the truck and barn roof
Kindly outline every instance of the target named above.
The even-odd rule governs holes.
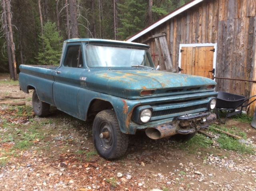
[[[70,38],[125,40],[189,0],[0,0],[0,72],[58,65]]]

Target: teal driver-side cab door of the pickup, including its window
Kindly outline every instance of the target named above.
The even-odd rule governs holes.
[[[79,118],[79,78],[80,74],[85,70],[83,66],[82,44],[67,44],[64,55],[60,68],[54,74],[54,102],[59,110]]]

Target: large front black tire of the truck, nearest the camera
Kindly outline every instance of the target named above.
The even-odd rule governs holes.
[[[100,138],[100,133],[108,132],[109,138]],[[92,137],[98,154],[105,159],[122,157],[128,148],[129,138],[120,131],[116,113],[106,109],[100,111],[92,125]]]

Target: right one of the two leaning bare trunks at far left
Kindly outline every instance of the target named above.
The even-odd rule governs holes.
[[[17,70],[16,70],[16,59],[15,59],[15,47],[12,36],[12,15],[11,15],[11,6],[10,0],[6,0],[6,11],[7,11],[7,23],[9,28],[9,38],[10,38],[10,47],[12,52],[12,67],[13,67],[13,80],[17,80]]]

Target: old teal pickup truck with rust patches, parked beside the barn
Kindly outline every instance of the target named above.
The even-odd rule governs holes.
[[[60,66],[20,65],[20,90],[34,90],[35,115],[50,105],[78,119],[93,119],[99,155],[123,156],[128,134],[188,140],[214,123],[216,83],[156,70],[149,46],[99,39],[64,41]]]

